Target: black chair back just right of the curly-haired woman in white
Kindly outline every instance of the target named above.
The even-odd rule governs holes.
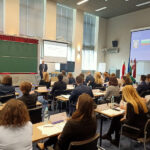
[[[42,121],[42,106],[28,109],[31,122],[33,124]]]

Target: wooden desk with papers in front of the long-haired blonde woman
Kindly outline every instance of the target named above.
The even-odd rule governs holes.
[[[117,117],[117,116],[120,116],[120,115],[123,115],[125,113],[124,110],[122,109],[119,109],[120,111],[117,111],[117,110],[114,110],[114,109],[111,109],[109,107],[110,104],[102,104],[102,105],[98,105],[97,108],[95,109],[95,112],[96,113],[99,113],[102,117],[100,119],[100,146],[102,144],[102,130],[103,130],[103,117],[106,117],[106,118],[114,118],[114,117]]]

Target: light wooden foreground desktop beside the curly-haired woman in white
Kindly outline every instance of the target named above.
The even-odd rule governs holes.
[[[52,133],[51,135],[47,135],[47,134],[42,134],[42,131],[40,129],[38,129],[39,126],[42,126],[42,125],[46,125],[46,124],[50,124],[50,122],[48,123],[45,123],[45,122],[40,122],[40,123],[36,123],[36,124],[33,124],[32,125],[32,128],[33,128],[33,134],[32,134],[32,142],[37,142],[39,140],[43,140],[43,139],[46,139],[48,137],[53,137],[53,136],[57,136],[59,135],[62,130],[63,130],[63,127],[61,130],[59,131],[56,131],[55,133]],[[57,124],[54,125],[54,127],[56,126]]]

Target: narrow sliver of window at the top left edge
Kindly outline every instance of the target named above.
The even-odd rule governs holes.
[[[0,0],[0,32],[4,31],[4,1]]]

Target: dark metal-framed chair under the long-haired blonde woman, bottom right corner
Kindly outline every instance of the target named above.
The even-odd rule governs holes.
[[[124,128],[130,130],[130,133],[128,132],[124,132]],[[133,133],[132,133],[133,131]],[[144,126],[144,137],[139,137],[139,134],[140,133],[140,129],[139,128],[136,128],[136,127],[133,127],[133,126],[130,126],[130,125],[127,125],[127,124],[123,124],[122,127],[121,127],[121,133],[120,135],[124,135],[132,140],[135,140],[139,143],[143,143],[143,146],[144,146],[144,150],[146,150],[146,143],[150,142],[150,119],[147,120],[145,126]],[[119,150],[120,150],[121,146],[119,144]]]

